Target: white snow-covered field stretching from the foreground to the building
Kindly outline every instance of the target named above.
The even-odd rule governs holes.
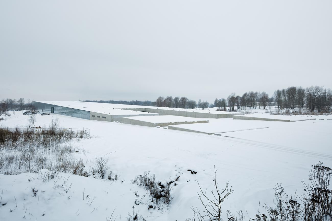
[[[115,220],[126,220],[127,213],[133,211],[146,220],[185,220],[192,216],[191,206],[202,208],[198,182],[208,191],[212,188],[210,169],[214,165],[220,187],[229,181],[235,191],[223,203],[224,220],[228,209],[233,213],[247,211],[248,218],[254,217],[258,209],[264,213],[264,203],[272,205],[276,183],[282,183],[289,194],[295,190],[301,194],[301,181],[307,181],[311,165],[323,161],[325,166],[332,166],[332,120],[327,120],[331,116],[292,123],[215,119],[200,124],[213,122],[214,127],[220,124],[232,128],[236,122],[237,128],[249,128],[249,124],[269,127],[223,136],[53,114],[37,115],[35,125],[47,127],[52,117],[58,118],[63,128],[89,128],[91,138],[73,144],[78,150],[75,157],[83,159],[87,170],[95,167],[96,157],[108,158],[109,171],[118,174],[119,179],[58,173],[56,178],[43,182],[43,174],[49,173],[45,169],[40,173],[1,174],[1,203],[5,205],[0,209],[0,220],[105,220],[113,211]],[[20,111],[0,121],[5,127],[27,124],[29,116]],[[132,184],[144,171],[155,174],[161,182],[177,180],[171,186],[170,205],[148,209],[147,192]],[[36,195],[32,188],[38,190]],[[135,203],[137,194],[139,205]]]

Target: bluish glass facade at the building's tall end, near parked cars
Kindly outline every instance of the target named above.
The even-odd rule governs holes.
[[[90,111],[79,110],[69,107],[62,107],[54,104],[45,104],[41,102],[33,102],[38,110],[50,111],[52,114],[61,114],[69,117],[77,117],[90,120]]]

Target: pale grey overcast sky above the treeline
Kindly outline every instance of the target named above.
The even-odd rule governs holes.
[[[1,1],[0,99],[332,88],[332,1]]]

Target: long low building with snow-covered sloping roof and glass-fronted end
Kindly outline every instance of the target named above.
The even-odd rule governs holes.
[[[149,107],[84,101],[33,101],[39,110],[88,120],[121,121],[122,117],[175,115],[195,118],[230,118],[243,113],[197,109]]]

